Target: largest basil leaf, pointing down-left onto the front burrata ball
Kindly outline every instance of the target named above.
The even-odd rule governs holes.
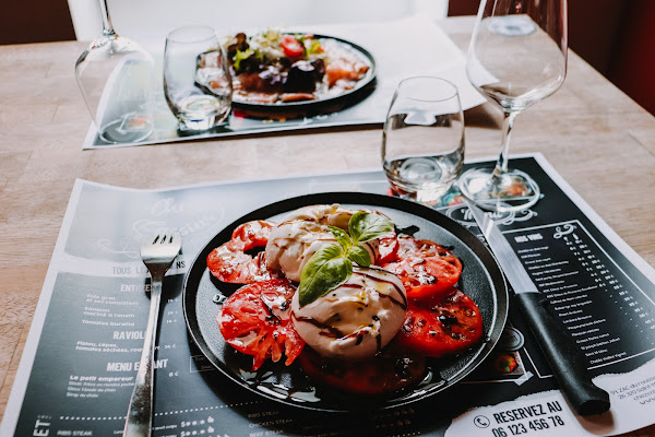
[[[353,274],[353,263],[343,256],[340,245],[322,246],[307,261],[300,273],[298,302],[301,307],[311,304],[336,288]]]

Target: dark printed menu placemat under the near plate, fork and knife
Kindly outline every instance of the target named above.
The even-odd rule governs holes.
[[[155,363],[155,436],[587,436],[653,423],[655,274],[540,155],[513,161],[544,198],[496,216],[612,409],[583,418],[557,390],[511,306],[499,345],[445,392],[405,406],[335,415],[264,399],[216,370],[187,334],[181,294],[195,253],[224,226],[312,192],[385,193],[381,172],[132,190],[79,180],[44,284],[2,435],[121,435],[148,310],[141,243],[182,234],[165,281]],[[438,208],[478,235],[451,192]]]

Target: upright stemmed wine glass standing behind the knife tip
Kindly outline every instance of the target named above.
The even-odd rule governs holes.
[[[458,181],[464,196],[489,211],[532,206],[539,186],[510,169],[512,126],[525,108],[555,93],[567,75],[567,0],[483,0],[466,63],[471,83],[504,114],[493,168],[473,168]],[[545,132],[546,133],[546,132]]]

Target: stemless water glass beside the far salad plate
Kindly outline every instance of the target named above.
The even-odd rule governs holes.
[[[227,119],[231,76],[212,27],[183,26],[167,35],[164,94],[181,131],[209,130]]]

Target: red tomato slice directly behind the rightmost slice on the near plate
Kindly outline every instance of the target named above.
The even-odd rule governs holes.
[[[462,262],[457,257],[416,257],[398,252],[398,261],[382,264],[397,275],[407,297],[427,299],[443,296],[460,280]]]

